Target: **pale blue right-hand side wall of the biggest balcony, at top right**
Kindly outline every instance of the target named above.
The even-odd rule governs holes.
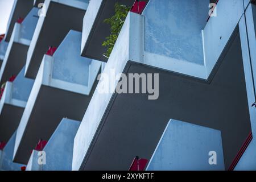
[[[227,6],[229,6],[229,10],[227,10]],[[211,17],[203,30],[207,78],[213,71],[217,61],[221,59],[222,51],[245,12],[243,1],[240,0],[219,1],[216,8],[217,16]],[[234,14],[234,12],[236,13]]]

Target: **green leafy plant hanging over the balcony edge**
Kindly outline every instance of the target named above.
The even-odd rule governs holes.
[[[119,32],[122,29],[125,18],[129,13],[131,7],[125,5],[119,5],[115,3],[115,14],[108,19],[105,19],[104,22],[110,24],[110,35],[106,37],[106,40],[102,43],[102,46],[107,47],[107,51],[103,56],[108,57],[114,48],[114,44],[117,41]]]

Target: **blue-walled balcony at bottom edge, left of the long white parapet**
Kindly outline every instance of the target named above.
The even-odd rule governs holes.
[[[43,151],[46,164],[38,164],[38,151],[33,151],[27,165],[27,171],[71,171],[73,143],[80,122],[62,119]]]

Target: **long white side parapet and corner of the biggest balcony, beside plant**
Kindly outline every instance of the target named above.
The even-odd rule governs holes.
[[[111,69],[114,69],[116,73],[122,73],[127,61],[132,60],[139,62],[143,60],[143,44],[141,44],[141,39],[143,39],[143,21],[144,19],[141,15],[135,13],[129,13],[127,15],[103,73],[111,75]],[[115,80],[112,89],[115,88],[118,80],[119,78]],[[90,146],[90,142],[92,142],[93,136],[96,133],[101,118],[114,92],[114,90],[110,90],[110,93],[99,93],[97,92],[98,87],[99,85],[96,88],[96,92],[93,94],[92,100],[90,101],[75,137],[72,162],[72,170],[75,171],[81,166],[82,160]],[[84,137],[84,134],[86,134],[86,137]]]

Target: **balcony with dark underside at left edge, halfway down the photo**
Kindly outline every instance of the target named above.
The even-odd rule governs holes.
[[[16,131],[34,80],[24,77],[25,68],[13,82],[7,81],[0,101],[0,141],[7,142]]]

